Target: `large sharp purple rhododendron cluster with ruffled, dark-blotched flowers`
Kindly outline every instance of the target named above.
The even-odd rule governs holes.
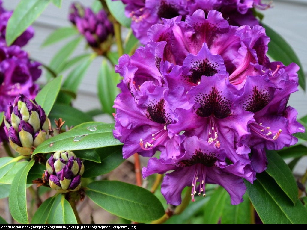
[[[162,20],[148,30],[150,42],[115,67],[123,79],[114,136],[124,158],[150,157],[144,178],[166,173],[161,192],[169,204],[181,203],[186,186],[193,201],[205,196],[206,183],[239,204],[243,179],[253,183],[266,169],[266,150],[289,147],[293,133],[304,132],[287,105],[299,67],[270,62],[263,27],[229,25],[217,10]]]

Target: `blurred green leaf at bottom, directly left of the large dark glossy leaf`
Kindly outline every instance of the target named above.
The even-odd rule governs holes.
[[[231,205],[230,196],[226,197],[221,224],[251,224],[251,202],[247,193],[243,195],[244,201],[238,205]]]

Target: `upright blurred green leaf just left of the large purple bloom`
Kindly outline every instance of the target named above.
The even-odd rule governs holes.
[[[98,97],[105,113],[112,115],[115,113],[114,100],[119,93],[116,87],[119,83],[119,75],[114,70],[110,70],[106,60],[103,60],[98,74]]]

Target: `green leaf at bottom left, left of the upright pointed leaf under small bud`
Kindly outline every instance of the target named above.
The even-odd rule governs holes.
[[[56,197],[49,197],[36,210],[31,224],[46,224]]]

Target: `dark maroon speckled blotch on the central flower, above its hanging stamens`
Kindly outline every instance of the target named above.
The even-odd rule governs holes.
[[[230,100],[222,96],[222,92],[212,87],[212,91],[208,94],[199,93],[195,97],[195,102],[200,103],[200,108],[196,110],[196,114],[200,117],[209,117],[211,115],[216,118],[225,118],[231,115]]]

